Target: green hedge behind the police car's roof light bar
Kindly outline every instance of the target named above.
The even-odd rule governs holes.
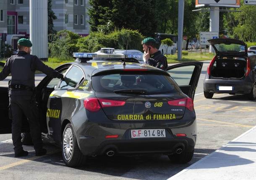
[[[128,49],[141,51],[141,41],[144,38],[137,30],[128,29],[115,30],[107,35],[94,32],[86,37],[81,37],[68,30],[62,30],[50,37],[50,57],[61,58],[70,57],[73,52],[96,52],[100,48],[126,49],[128,39]]]

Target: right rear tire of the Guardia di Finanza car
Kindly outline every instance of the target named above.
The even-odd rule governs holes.
[[[194,155],[194,149],[191,152],[184,150],[180,154],[175,153],[172,155],[168,155],[168,157],[170,159],[170,162],[172,162],[172,163],[185,164],[192,160],[193,155]]]

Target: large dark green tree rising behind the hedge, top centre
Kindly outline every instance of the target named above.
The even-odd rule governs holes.
[[[156,4],[159,0],[89,0],[89,24],[95,32],[112,22],[116,29],[138,30],[153,36],[157,30]]]

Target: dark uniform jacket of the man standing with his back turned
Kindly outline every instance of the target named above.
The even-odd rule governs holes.
[[[46,66],[37,56],[30,55],[25,51],[18,51],[16,55],[6,60],[3,71],[0,72],[0,81],[11,73],[11,84],[23,84],[34,88],[36,70],[42,71],[52,78],[59,75],[58,71]]]

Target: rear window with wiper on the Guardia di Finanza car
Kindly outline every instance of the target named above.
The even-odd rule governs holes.
[[[95,91],[114,93],[115,90],[144,89],[147,94],[169,94],[180,88],[170,76],[156,74],[107,74],[92,77]]]

